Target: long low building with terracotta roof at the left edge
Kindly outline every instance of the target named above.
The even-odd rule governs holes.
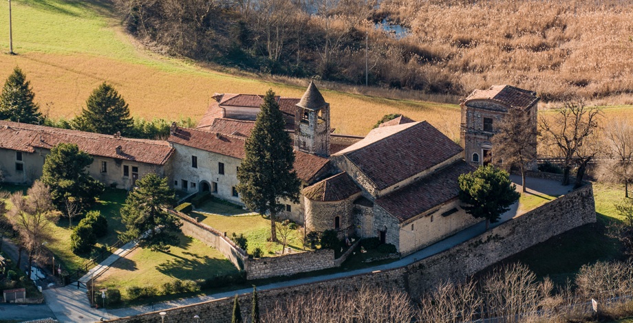
[[[107,186],[129,189],[148,172],[171,177],[174,149],[161,140],[138,140],[50,126],[0,121],[0,171],[4,181],[32,183],[46,155],[60,143],[76,144],[94,158],[87,170]]]

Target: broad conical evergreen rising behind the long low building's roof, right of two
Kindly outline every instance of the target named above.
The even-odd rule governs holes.
[[[103,82],[86,100],[86,108],[73,120],[74,129],[114,135],[129,135],[134,120],[129,116],[125,100],[112,87]]]

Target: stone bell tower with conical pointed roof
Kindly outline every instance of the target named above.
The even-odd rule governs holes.
[[[304,153],[330,156],[330,104],[310,82],[294,113],[294,148]]]

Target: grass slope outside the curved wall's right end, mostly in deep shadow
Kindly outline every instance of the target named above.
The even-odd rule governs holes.
[[[549,276],[564,284],[573,280],[580,267],[599,260],[623,258],[620,243],[607,236],[608,225],[619,221],[613,203],[624,197],[623,187],[594,183],[597,223],[577,227],[550,238],[503,261],[519,261],[530,267],[539,277]],[[533,198],[530,198],[533,199]]]

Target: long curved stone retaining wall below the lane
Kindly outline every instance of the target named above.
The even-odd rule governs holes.
[[[588,183],[535,210],[493,227],[469,241],[405,267],[258,291],[259,309],[264,313],[276,302],[283,302],[288,298],[308,295],[323,289],[354,292],[363,285],[383,290],[406,291],[414,300],[419,299],[422,293],[439,282],[464,280],[552,236],[595,221],[593,189]],[[250,299],[250,294],[239,296],[243,317],[249,315]],[[233,299],[222,298],[166,310],[167,316],[164,322],[186,322],[194,315],[200,315],[205,322],[230,322],[232,310]],[[111,322],[158,322],[160,318],[158,312],[120,318]]]

